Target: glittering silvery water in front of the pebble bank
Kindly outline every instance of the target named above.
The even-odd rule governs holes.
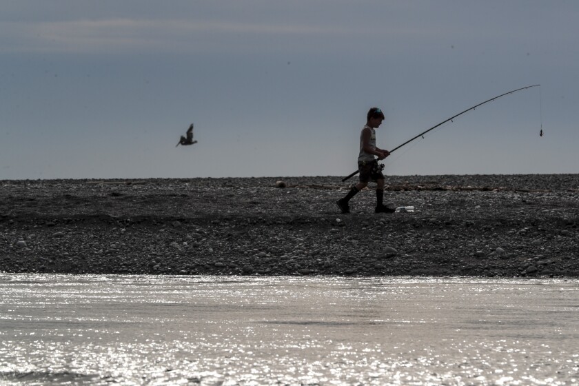
[[[0,384],[576,385],[578,284],[0,274]]]

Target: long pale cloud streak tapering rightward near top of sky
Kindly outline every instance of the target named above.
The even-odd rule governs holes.
[[[232,37],[346,34],[339,28],[231,21],[103,19],[0,23],[1,52],[203,50]]]

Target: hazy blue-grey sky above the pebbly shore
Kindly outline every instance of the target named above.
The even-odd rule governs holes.
[[[579,1],[0,5],[0,180],[579,172]]]

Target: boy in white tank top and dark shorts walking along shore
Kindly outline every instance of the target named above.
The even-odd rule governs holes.
[[[352,187],[343,199],[336,201],[342,213],[349,213],[348,202],[356,193],[363,190],[370,180],[376,181],[376,213],[393,213],[394,209],[383,204],[384,198],[384,174],[378,167],[378,161],[390,155],[388,150],[380,149],[376,146],[376,129],[380,127],[384,120],[384,113],[379,108],[371,108],[366,116],[366,125],[360,133],[360,154],[358,155],[358,170],[360,171],[360,182]]]

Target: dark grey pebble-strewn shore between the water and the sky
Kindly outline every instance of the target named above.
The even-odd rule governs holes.
[[[276,187],[283,181],[285,187]],[[0,181],[0,271],[579,276],[579,174]]]

